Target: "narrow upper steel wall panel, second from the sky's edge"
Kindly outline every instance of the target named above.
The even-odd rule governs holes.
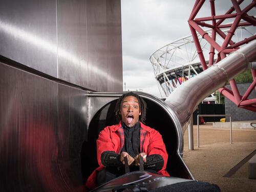
[[[88,1],[88,79],[92,90],[106,91],[108,86],[107,53],[104,46],[108,44],[106,38],[106,0]],[[96,9],[96,7],[99,7]],[[102,51],[102,52],[101,52]],[[105,51],[105,52],[103,52]]]

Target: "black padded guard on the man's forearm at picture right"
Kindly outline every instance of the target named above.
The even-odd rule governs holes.
[[[163,167],[163,163],[163,157],[161,155],[150,155],[146,157],[144,169],[160,171]]]

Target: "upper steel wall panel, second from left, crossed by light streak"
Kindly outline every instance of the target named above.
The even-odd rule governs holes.
[[[87,1],[57,0],[58,77],[88,87]]]

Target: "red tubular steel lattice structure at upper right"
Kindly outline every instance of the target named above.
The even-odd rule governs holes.
[[[189,28],[191,31],[191,34],[193,36],[193,39],[195,41],[196,49],[203,67],[203,70],[206,70],[209,66],[214,65],[218,63],[221,59],[225,58],[227,54],[236,51],[240,48],[241,45],[248,43],[249,41],[252,41],[253,39],[256,39],[256,35],[252,35],[251,37],[245,38],[244,40],[241,40],[240,42],[233,42],[231,40],[234,32],[238,27],[241,26],[255,26],[256,25],[256,19],[254,16],[249,16],[248,12],[255,7],[256,1],[252,1],[249,5],[247,5],[244,9],[241,9],[240,5],[243,2],[243,0],[231,0],[232,7],[223,15],[216,15],[215,12],[215,1],[209,0],[210,3],[210,9],[211,9],[211,15],[208,17],[201,17],[196,18],[198,12],[202,8],[203,4],[205,3],[205,0],[197,0],[195,2],[195,5],[193,7],[193,10],[189,16],[188,23]],[[233,22],[229,24],[222,24],[226,19],[233,18]],[[206,22],[204,22],[206,21]],[[211,21],[211,24],[209,23]],[[206,33],[203,28],[210,28],[211,29],[211,36]],[[229,28],[229,31],[227,34],[222,32],[222,29]],[[209,64],[206,65],[206,61],[204,58],[204,55],[202,53],[202,48],[197,36],[197,32],[202,35],[202,37],[210,44],[210,51],[209,51]],[[219,35],[223,38],[223,43],[218,44],[216,42],[216,35]],[[214,59],[215,52],[218,52],[216,60]],[[251,74],[253,78],[253,82],[248,87],[247,91],[241,95],[236,81],[233,79],[231,80],[230,86],[231,90],[227,87],[222,87],[219,89],[219,91],[229,100],[231,100],[233,103],[235,103],[238,107],[248,109],[250,111],[256,112],[256,98],[254,99],[248,99],[248,96],[250,95],[251,91],[255,89],[256,86],[256,69],[251,69]]]

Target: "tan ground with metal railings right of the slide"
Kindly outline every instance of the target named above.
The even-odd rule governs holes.
[[[217,184],[221,191],[255,191],[256,179],[248,179],[248,162],[231,177],[223,177],[232,167],[256,150],[256,130],[213,128],[200,125],[200,148],[197,147],[197,126],[194,126],[194,148],[188,150],[184,135],[183,159],[196,180]]]

